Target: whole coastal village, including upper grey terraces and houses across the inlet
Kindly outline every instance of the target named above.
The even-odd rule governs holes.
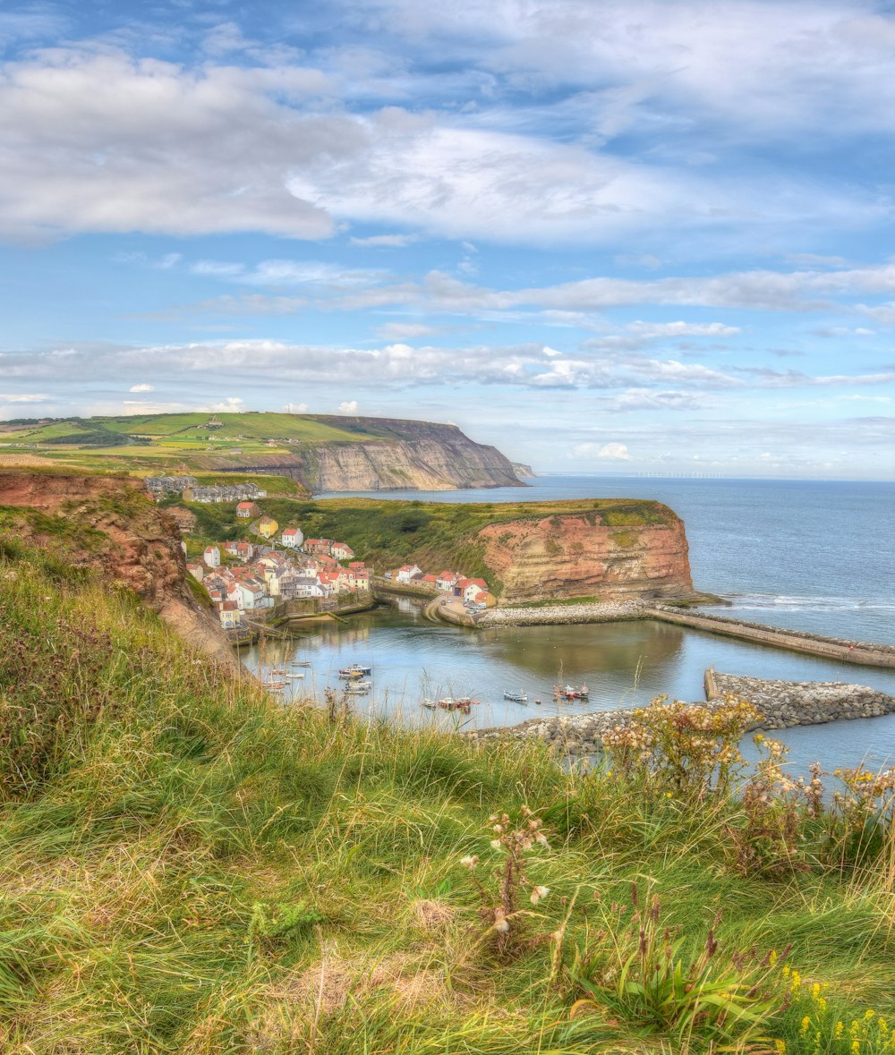
[[[198,488],[189,478],[165,483],[168,485],[151,488],[156,499],[175,488],[187,501],[232,501],[234,492],[264,497],[253,484]],[[265,621],[291,601],[318,602],[308,606],[312,612],[372,602],[376,573],[363,560],[355,559],[347,542],[305,538],[294,525],[281,529],[253,498],[239,501],[234,516],[256,541],[213,542],[196,559],[187,561],[188,572],[208,594],[225,630],[239,632]],[[484,579],[469,578],[457,571],[432,574],[417,564],[404,564],[385,572],[378,586],[386,592],[458,598],[470,610],[496,605]]]

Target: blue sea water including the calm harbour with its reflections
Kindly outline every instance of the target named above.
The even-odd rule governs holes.
[[[772,626],[895,644],[895,486],[879,482],[538,476],[518,487],[459,492],[376,492],[376,497],[438,502],[650,498],[684,520],[698,590],[724,599],[705,606]],[[350,540],[348,540],[350,541]],[[262,673],[285,666],[284,705],[322,696],[353,661],[373,668],[372,689],[355,708],[373,717],[446,728],[514,725],[540,714],[642,706],[660,694],[702,699],[706,667],[786,680],[850,682],[895,695],[895,670],[858,667],[639,621],[471,631],[436,626],[403,598],[344,624],[316,622],[289,641],[244,650]],[[309,667],[292,668],[292,660]],[[557,683],[587,684],[587,703],[557,705]],[[528,704],[503,699],[520,692]],[[469,715],[430,711],[421,701],[470,695]],[[540,701],[540,703],[536,703]],[[860,762],[895,764],[895,715],[775,733],[795,771]]]

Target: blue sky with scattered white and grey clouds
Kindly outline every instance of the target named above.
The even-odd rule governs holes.
[[[862,0],[3,0],[0,418],[895,479],[893,70]]]

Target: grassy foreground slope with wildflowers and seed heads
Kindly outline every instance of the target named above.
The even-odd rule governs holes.
[[[891,789],[662,713],[583,774],[284,710],[7,539],[0,1050],[895,1051]]]

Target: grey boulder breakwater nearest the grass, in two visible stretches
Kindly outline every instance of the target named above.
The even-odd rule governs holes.
[[[753,729],[788,729],[844,718],[878,717],[895,713],[895,698],[863,685],[842,682],[775,682],[758,677],[706,672],[706,685],[719,695],[732,693],[750,703],[762,715]],[[716,709],[718,696],[694,706]],[[558,754],[597,753],[607,730],[628,725],[634,709],[594,711],[589,714],[553,714],[521,725],[481,729],[468,735],[476,740],[540,740]]]

